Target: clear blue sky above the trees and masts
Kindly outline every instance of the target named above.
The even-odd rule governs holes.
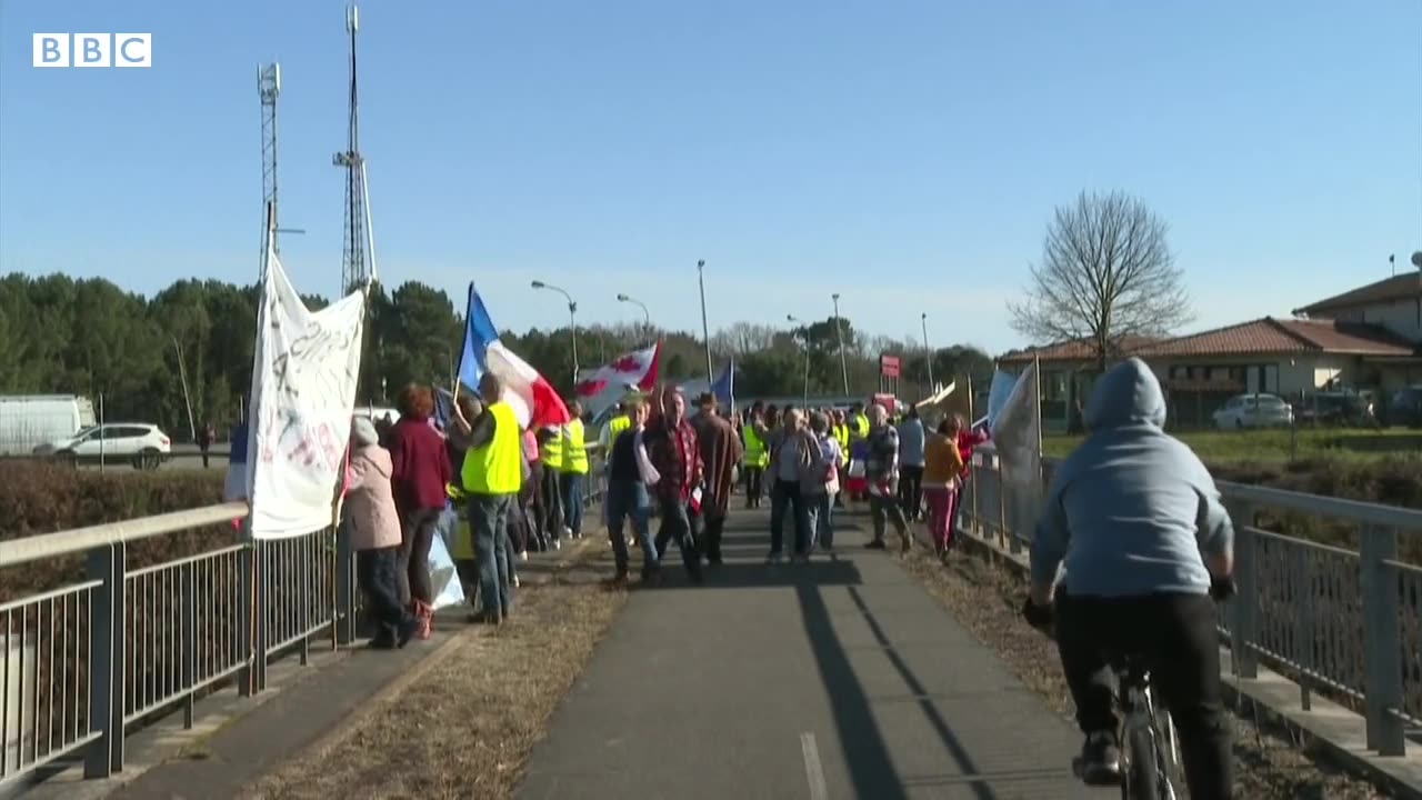
[[[378,0],[363,149],[381,278],[501,326],[825,317],[1018,344],[1052,206],[1125,189],[1172,225],[1196,327],[1422,249],[1422,0]],[[344,4],[0,3],[0,272],[139,292],[252,280],[259,61],[283,67],[282,222],[337,289]],[[151,31],[149,70],[34,70],[31,33]]]

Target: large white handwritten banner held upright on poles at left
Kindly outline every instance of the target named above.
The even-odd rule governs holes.
[[[247,434],[253,538],[299,537],[331,524],[364,322],[363,292],[313,313],[276,253],[267,253]]]

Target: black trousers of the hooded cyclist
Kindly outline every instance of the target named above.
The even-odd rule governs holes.
[[[1180,732],[1190,797],[1233,797],[1230,727],[1220,698],[1214,601],[1207,595],[1057,598],[1057,648],[1082,733],[1118,730],[1112,653],[1138,653]]]

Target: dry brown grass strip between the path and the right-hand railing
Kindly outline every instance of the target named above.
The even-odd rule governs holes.
[[[1007,668],[1051,709],[1071,717],[1074,706],[1062,679],[1057,648],[1018,615],[1027,588],[1021,578],[983,558],[954,554],[940,565],[921,549],[906,562],[929,589],[963,625],[993,648]],[[1257,727],[1241,717],[1234,722],[1234,790],[1237,797],[1298,800],[1371,800],[1388,793],[1341,772],[1315,757],[1307,747],[1287,739],[1287,733]]]

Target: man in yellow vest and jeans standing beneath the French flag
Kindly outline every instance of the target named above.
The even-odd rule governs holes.
[[[498,376],[483,373],[479,394],[485,399],[485,409],[469,424],[469,448],[459,470],[469,498],[469,530],[479,565],[479,609],[474,621],[495,625],[513,609],[509,517],[523,488],[519,420],[502,400],[502,393]]]

